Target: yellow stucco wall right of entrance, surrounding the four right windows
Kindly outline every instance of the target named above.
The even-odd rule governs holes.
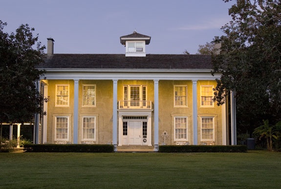
[[[174,106],[174,85],[187,85],[187,106]],[[163,131],[167,131],[169,137],[166,144],[175,145],[174,140],[174,117],[184,116],[188,118],[188,142],[193,144],[193,89],[192,81],[159,81],[159,144],[164,143],[161,136]],[[215,118],[215,145],[222,145],[222,107],[214,104],[214,107],[201,107],[200,92],[201,85],[216,86],[216,81],[197,81],[197,131],[198,141],[201,144],[200,117],[210,116]],[[203,141],[204,142],[204,141]]]

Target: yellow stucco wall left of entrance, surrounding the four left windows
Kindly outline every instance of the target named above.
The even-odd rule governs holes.
[[[56,84],[69,84],[69,106],[55,106]],[[96,106],[82,106],[82,85],[96,85]],[[81,143],[82,116],[96,116],[96,144],[111,144],[112,141],[112,95],[113,84],[109,80],[80,80],[79,81],[79,123],[78,143]],[[73,109],[74,109],[74,81],[73,80],[49,80],[48,81],[47,110],[47,143],[55,142],[54,116],[70,116],[69,142],[73,142]]]

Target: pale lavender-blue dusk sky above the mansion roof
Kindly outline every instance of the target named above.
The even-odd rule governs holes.
[[[55,53],[125,54],[120,37],[151,36],[147,54],[195,54],[223,35],[231,21],[223,0],[2,0],[0,20],[11,33],[29,24],[39,41],[55,40]],[[45,51],[46,52],[46,51]]]

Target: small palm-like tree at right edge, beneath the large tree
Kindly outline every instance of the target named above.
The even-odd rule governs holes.
[[[281,131],[281,121],[276,125],[272,126],[269,124],[268,120],[263,120],[263,125],[255,128],[254,134],[259,134],[259,140],[261,138],[266,139],[267,149],[272,151],[273,149],[273,139],[278,139],[280,137]]]

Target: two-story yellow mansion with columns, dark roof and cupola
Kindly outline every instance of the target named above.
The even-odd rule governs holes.
[[[227,145],[226,106],[213,102],[209,55],[146,54],[151,37],[120,37],[125,54],[54,54],[48,38],[36,143]],[[39,126],[39,124],[38,124]],[[165,131],[165,132],[164,132]]]

